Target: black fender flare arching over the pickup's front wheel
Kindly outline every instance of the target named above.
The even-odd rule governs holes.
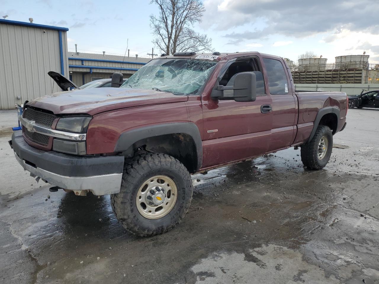
[[[188,134],[194,140],[197,154],[197,170],[199,170],[203,163],[203,142],[201,140],[199,128],[197,128],[196,124],[192,122],[164,123],[125,131],[124,133],[121,133],[117,140],[114,152],[132,151],[133,144],[140,140],[176,133]]]

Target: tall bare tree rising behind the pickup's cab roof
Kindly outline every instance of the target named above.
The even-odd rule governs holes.
[[[153,44],[166,54],[177,51],[212,51],[212,39],[192,29],[205,11],[200,0],[151,0],[159,16],[150,15]]]

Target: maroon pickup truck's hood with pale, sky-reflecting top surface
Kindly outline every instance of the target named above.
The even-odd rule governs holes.
[[[186,95],[174,95],[145,89],[93,88],[58,92],[36,98],[27,105],[54,114],[94,115],[114,109],[187,101]]]

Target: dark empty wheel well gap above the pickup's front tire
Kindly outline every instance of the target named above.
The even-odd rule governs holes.
[[[197,170],[197,152],[193,138],[185,133],[165,134],[142,139],[133,144],[133,150],[168,154],[178,159],[190,173]]]

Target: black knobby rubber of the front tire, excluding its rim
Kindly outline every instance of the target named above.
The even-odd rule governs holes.
[[[175,183],[177,197],[166,215],[150,219],[142,215],[146,213],[140,213],[141,207],[138,207],[136,198],[143,184],[157,176],[166,176]],[[180,161],[166,154],[139,154],[131,160],[125,160],[121,189],[119,193],[111,195],[111,206],[117,220],[127,231],[137,236],[153,236],[167,232],[180,223],[191,204],[192,193],[191,176]]]

